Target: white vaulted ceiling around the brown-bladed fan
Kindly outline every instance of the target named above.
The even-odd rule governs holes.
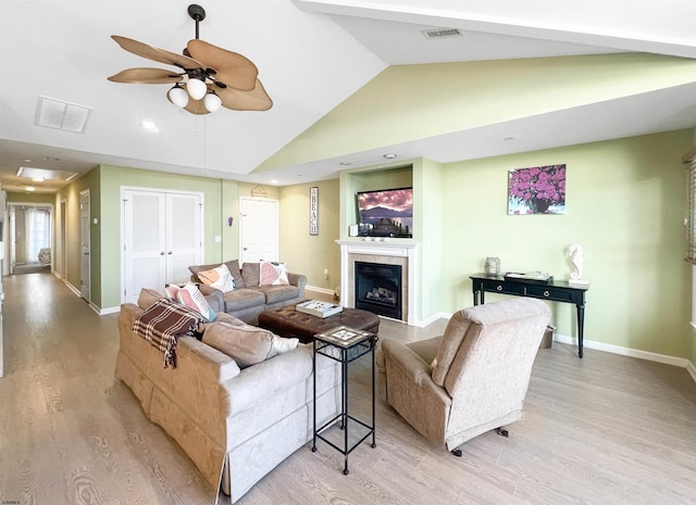
[[[202,0],[200,38],[252,60],[273,109],[195,116],[165,99],[165,85],[107,80],[124,68],[166,67],[122,50],[110,36],[179,52],[195,37],[189,3],[0,0],[2,189],[32,184],[15,176],[22,165],[84,173],[112,164],[281,185],[309,169],[314,180],[335,177],[337,159],[253,169],[388,65],[629,51],[696,59],[693,0]],[[433,27],[464,36],[427,40],[421,30]],[[39,97],[90,108],[85,131],[36,126]],[[156,122],[159,132],[142,130],[142,119]],[[383,146],[352,153],[351,161],[376,164],[393,151],[448,162],[694,125],[696,83]],[[514,142],[499,140],[510,131]]]

